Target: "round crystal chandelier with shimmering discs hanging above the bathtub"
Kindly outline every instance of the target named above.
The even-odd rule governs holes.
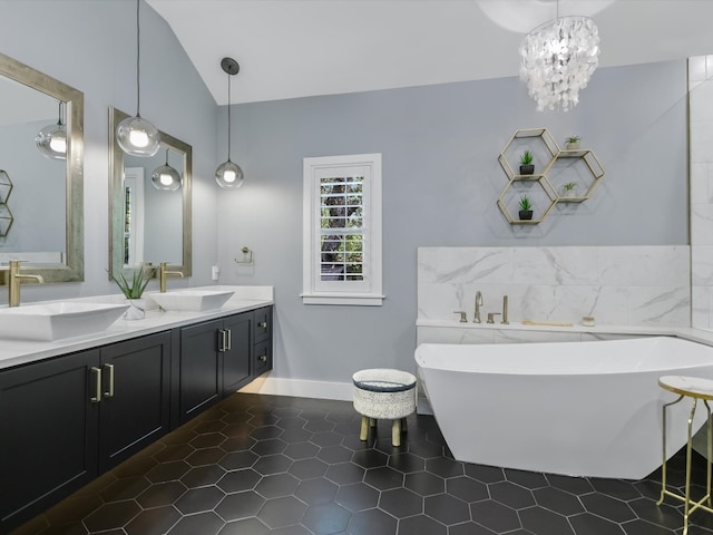
[[[525,36],[520,57],[520,80],[538,111],[568,111],[597,68],[599,32],[588,17],[557,17]]]

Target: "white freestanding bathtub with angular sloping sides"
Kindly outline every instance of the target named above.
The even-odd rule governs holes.
[[[572,476],[641,479],[662,464],[662,376],[713,379],[713,348],[676,338],[423,343],[416,362],[457,460]],[[667,456],[691,403],[668,409]],[[696,429],[705,421],[696,410]]]

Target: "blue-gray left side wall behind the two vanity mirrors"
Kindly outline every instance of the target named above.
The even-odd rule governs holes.
[[[0,50],[85,94],[85,282],[30,285],[25,301],[118,293],[108,282],[108,109],[136,111],[136,8],[128,0],[0,2]],[[219,59],[219,58],[218,58]],[[216,59],[216,69],[219,65]],[[194,154],[194,273],[209,283],[217,256],[216,105],[172,29],[141,6],[141,116]],[[149,285],[154,288],[155,283]],[[0,304],[7,292],[0,291]]]

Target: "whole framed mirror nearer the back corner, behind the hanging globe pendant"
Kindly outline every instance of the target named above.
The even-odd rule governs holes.
[[[172,271],[191,276],[193,149],[162,132],[155,156],[129,156],[115,135],[127,117],[109,108],[109,274],[167,262]],[[175,191],[157,189],[152,183],[154,171],[165,165],[183,178]]]

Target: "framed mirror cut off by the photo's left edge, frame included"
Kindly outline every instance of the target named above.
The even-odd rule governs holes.
[[[22,260],[45,282],[84,280],[84,94],[0,54],[0,264]],[[48,157],[39,132],[64,125]],[[8,272],[0,270],[0,284]]]

